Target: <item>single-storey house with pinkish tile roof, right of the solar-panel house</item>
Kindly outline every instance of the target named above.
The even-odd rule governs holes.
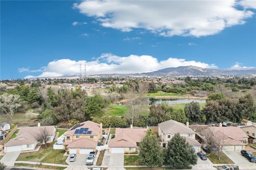
[[[110,139],[110,153],[135,152],[138,143],[146,135],[147,128],[116,128],[115,137]]]

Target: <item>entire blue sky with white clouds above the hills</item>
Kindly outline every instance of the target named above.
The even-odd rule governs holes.
[[[0,6],[0,79],[80,74],[80,64],[86,74],[256,67],[255,0],[1,0]]]

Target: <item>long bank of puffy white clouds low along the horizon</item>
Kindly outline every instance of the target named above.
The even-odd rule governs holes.
[[[42,67],[42,74],[33,76],[27,75],[25,78],[55,77],[63,75],[79,75],[80,64],[82,70],[86,65],[86,74],[111,74],[111,73],[145,73],[156,71],[167,67],[179,67],[194,65],[203,68],[217,68],[214,64],[202,63],[200,61],[186,61],[186,59],[169,58],[158,61],[151,55],[129,55],[121,57],[111,53],[104,53],[93,61],[74,61],[71,59],[59,59],[51,61],[47,66]]]

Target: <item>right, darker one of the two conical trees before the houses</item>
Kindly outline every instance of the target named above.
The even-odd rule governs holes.
[[[174,169],[182,169],[197,163],[197,156],[193,146],[189,145],[186,138],[179,133],[174,134],[168,141],[166,160]]]

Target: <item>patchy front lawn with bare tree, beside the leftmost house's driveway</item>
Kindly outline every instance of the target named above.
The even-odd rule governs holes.
[[[68,156],[63,156],[65,150],[54,150],[52,145],[53,143],[47,144],[46,148],[42,145],[38,152],[21,153],[17,160],[67,165]]]

